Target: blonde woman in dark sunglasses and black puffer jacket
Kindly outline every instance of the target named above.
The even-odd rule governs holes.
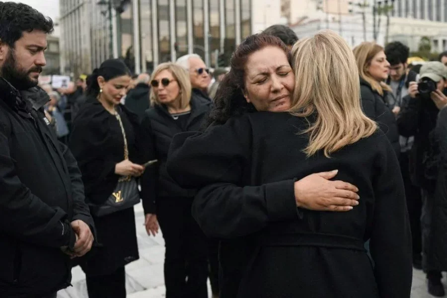
[[[207,298],[207,238],[191,215],[195,192],[181,188],[169,177],[166,159],[174,135],[199,130],[211,102],[192,95],[188,73],[173,63],[160,64],[151,75],[150,85],[151,108],[146,111],[142,128],[151,144],[147,150],[153,150],[159,162],[143,175],[142,192],[154,198],[143,202],[146,223],[150,227],[154,221],[151,214],[155,201],[165,240],[166,298]]]

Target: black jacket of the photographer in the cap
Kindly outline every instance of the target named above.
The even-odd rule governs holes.
[[[439,109],[431,98],[422,98],[419,95],[415,98],[407,95],[404,97],[404,101],[407,101],[408,104],[400,111],[397,125],[402,136],[414,136],[414,144],[410,152],[411,180],[414,185],[433,194],[435,185],[425,179],[422,160],[430,145],[429,134],[436,127]]]

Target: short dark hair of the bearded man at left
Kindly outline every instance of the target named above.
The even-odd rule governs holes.
[[[33,30],[53,33],[53,20],[23,3],[0,1],[0,40],[11,48],[23,32]]]

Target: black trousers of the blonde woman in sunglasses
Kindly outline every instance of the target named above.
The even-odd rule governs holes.
[[[208,242],[191,215],[192,199],[158,201],[157,219],[166,246],[166,298],[208,298]]]

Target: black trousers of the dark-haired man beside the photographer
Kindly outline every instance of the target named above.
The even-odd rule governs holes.
[[[408,155],[409,152],[400,153],[400,171],[402,173],[402,178],[405,186],[405,197],[407,199],[408,217],[410,220],[413,255],[420,258],[422,252],[421,189],[417,186],[414,186],[411,182]]]

